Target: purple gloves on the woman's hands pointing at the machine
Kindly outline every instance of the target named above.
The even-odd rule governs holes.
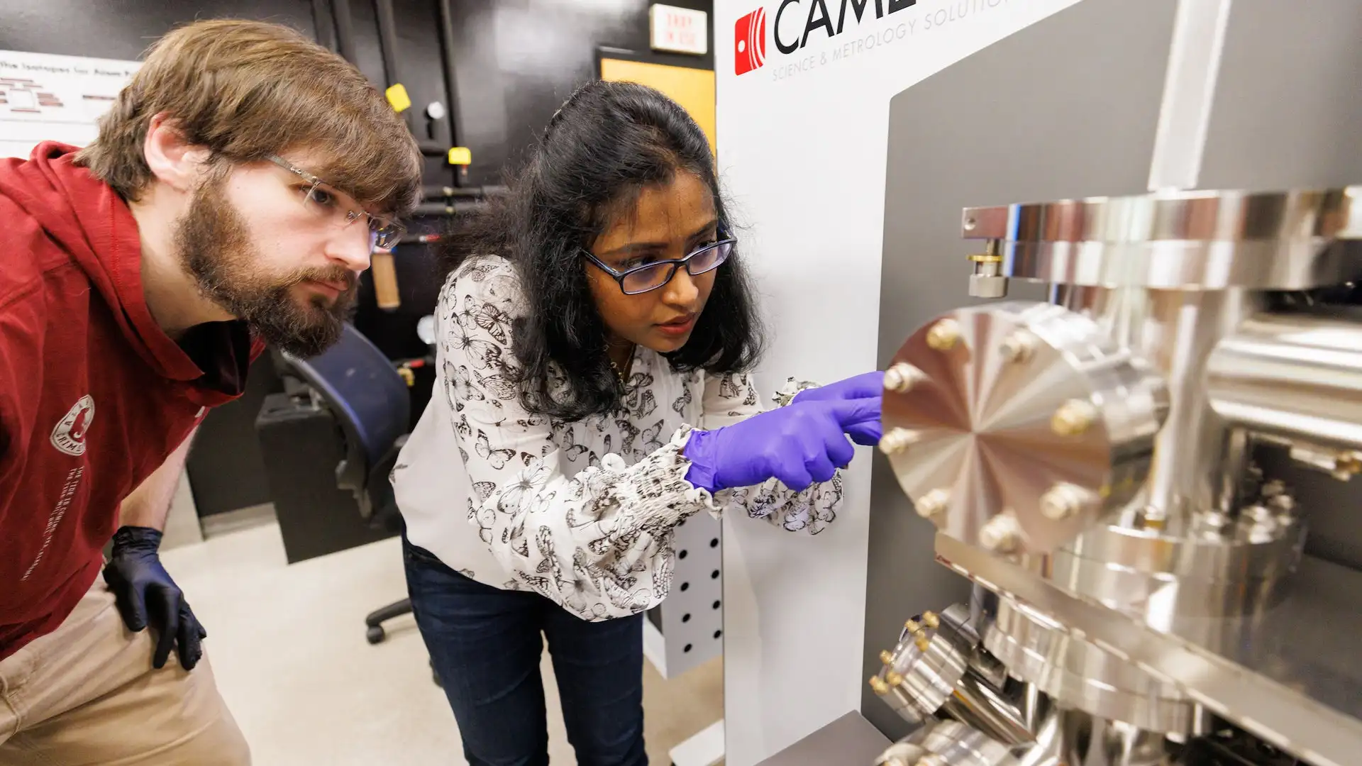
[[[880,401],[801,401],[716,431],[692,431],[686,481],[718,492],[779,478],[790,489],[832,478],[855,455],[846,433],[880,423]]]

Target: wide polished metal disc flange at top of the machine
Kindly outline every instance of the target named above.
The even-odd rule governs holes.
[[[1362,187],[1189,191],[967,207],[1002,274],[1065,285],[1303,290],[1362,266]]]

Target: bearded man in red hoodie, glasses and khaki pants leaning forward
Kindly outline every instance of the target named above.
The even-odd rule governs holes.
[[[0,765],[249,763],[161,529],[204,413],[339,338],[419,189],[364,75],[240,20],[154,44],[90,146],[0,161]]]

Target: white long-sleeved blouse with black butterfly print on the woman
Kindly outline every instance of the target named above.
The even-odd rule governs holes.
[[[440,293],[434,395],[392,473],[414,545],[478,582],[606,620],[666,598],[673,530],[692,514],[812,534],[835,518],[840,474],[802,492],[772,478],[712,496],[685,480],[692,428],[763,412],[746,375],[678,373],[640,348],[618,412],[575,423],[526,412],[511,345],[523,311],[515,271],[494,256],[464,262]]]

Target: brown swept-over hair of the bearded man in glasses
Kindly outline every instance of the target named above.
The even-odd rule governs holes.
[[[324,157],[317,174],[362,204],[410,213],[421,154],[406,124],[345,59],[279,25],[236,19],[180,27],[146,60],[99,120],[76,164],[136,200],[153,180],[143,154],[159,113],[215,159],[256,162],[289,150]]]

